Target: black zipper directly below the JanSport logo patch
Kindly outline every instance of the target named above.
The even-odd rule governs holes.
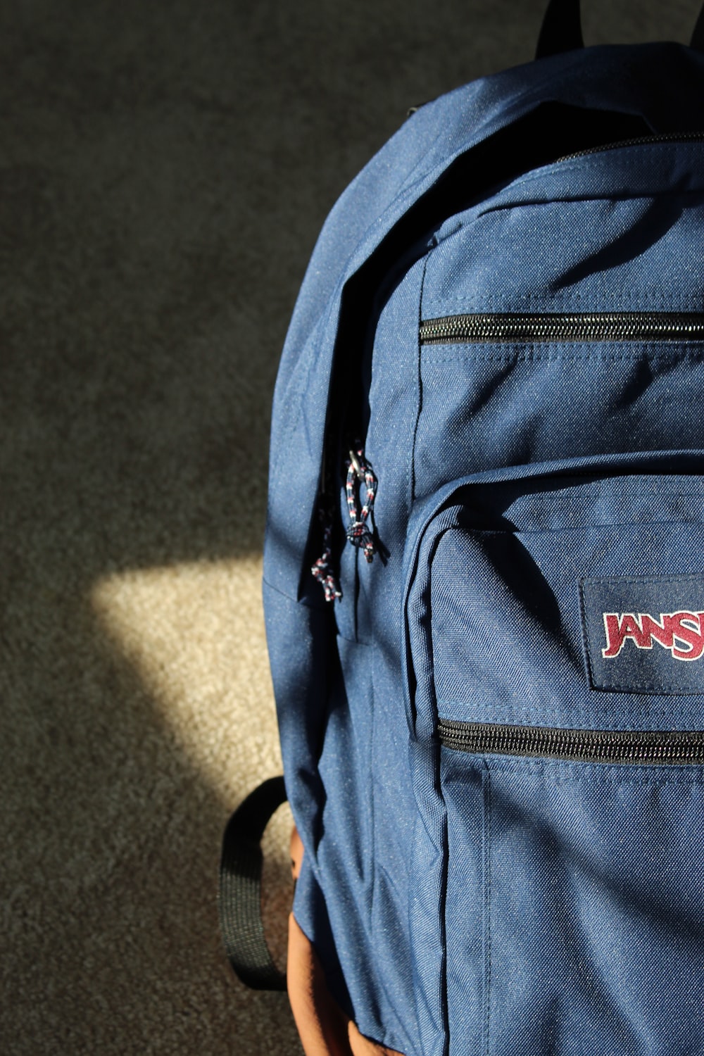
[[[445,748],[578,762],[704,762],[704,732],[556,730],[440,719]]]

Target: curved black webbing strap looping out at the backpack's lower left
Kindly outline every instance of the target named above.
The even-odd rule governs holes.
[[[252,989],[286,989],[286,976],[264,938],[260,846],[269,818],[285,800],[284,778],[269,778],[240,804],[223,836],[220,928],[230,964]]]

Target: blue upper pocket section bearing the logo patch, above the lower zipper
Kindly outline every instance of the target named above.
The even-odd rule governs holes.
[[[455,489],[412,559],[420,714],[430,709],[433,723],[700,728],[704,482],[647,472],[655,457],[636,459],[633,472],[620,456],[591,470],[575,461],[564,472],[478,474]]]

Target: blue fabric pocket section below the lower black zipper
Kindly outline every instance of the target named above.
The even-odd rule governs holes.
[[[701,765],[440,756],[450,1053],[704,1051]]]

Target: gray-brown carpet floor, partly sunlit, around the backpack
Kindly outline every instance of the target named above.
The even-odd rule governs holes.
[[[3,1052],[300,1052],[215,914],[225,821],[280,770],[278,357],[345,184],[410,105],[528,60],[543,6],[0,5]],[[590,42],[685,40],[698,2],[585,6]]]

